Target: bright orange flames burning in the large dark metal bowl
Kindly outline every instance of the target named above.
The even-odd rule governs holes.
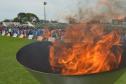
[[[120,32],[105,32],[100,24],[75,24],[63,41],[50,48],[50,64],[63,75],[100,73],[117,69],[122,55]]]

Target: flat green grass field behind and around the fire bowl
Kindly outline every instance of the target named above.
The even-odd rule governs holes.
[[[16,52],[31,42],[33,41],[0,36],[0,84],[39,84],[16,61]],[[115,84],[126,84],[126,73]]]

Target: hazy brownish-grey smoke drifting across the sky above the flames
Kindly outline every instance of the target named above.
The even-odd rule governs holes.
[[[126,0],[77,0],[76,9],[72,17],[77,22],[108,21],[125,16],[125,4]]]

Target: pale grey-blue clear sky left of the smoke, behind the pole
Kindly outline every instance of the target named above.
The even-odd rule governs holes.
[[[19,12],[30,12],[43,19],[43,2],[46,1],[47,19],[62,21],[76,6],[76,0],[0,0],[0,21],[13,19]]]

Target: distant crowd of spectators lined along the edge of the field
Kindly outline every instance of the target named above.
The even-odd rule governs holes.
[[[49,29],[47,27],[37,29],[31,27],[0,27],[1,36],[35,39],[38,41],[55,41],[62,39],[63,29]]]

